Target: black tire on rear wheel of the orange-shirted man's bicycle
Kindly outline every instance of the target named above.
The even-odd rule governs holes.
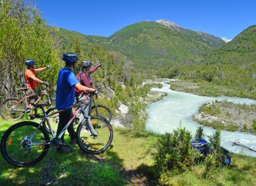
[[[8,102],[10,101],[16,101],[18,102],[18,105],[22,106],[22,109],[25,111],[25,106],[24,106],[24,102],[20,102],[20,99],[16,98],[16,97],[10,97],[10,98],[7,98],[5,99],[2,103],[1,103],[1,106],[0,106],[0,114],[1,116],[5,119],[5,120],[12,120],[12,121],[15,121],[15,120],[19,120],[20,118],[22,118],[25,114],[25,112],[20,112],[20,114],[18,114],[18,116],[16,118],[12,118],[12,113],[10,114],[5,114],[3,112],[3,108],[5,106],[5,104],[7,104]],[[12,103],[11,103],[12,104]],[[18,112],[16,112],[18,113]]]

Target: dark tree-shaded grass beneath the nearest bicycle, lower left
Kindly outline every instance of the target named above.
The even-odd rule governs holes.
[[[0,128],[0,137],[12,124]],[[67,141],[69,137],[66,135]],[[84,154],[78,145],[73,145],[71,154],[58,154],[50,149],[47,156],[34,166],[18,168],[5,162],[0,154],[0,185],[124,185],[124,176],[120,173],[122,161],[111,152],[113,145],[105,152],[110,160],[115,159],[116,166],[111,166],[103,155]]]

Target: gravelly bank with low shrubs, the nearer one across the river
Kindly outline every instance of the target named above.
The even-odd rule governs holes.
[[[196,122],[226,131],[256,134],[256,105],[211,101],[202,104],[193,116]]]

